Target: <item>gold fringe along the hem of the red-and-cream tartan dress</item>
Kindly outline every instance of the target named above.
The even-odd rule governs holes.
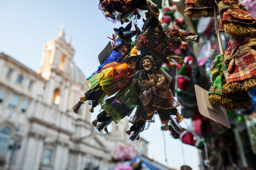
[[[225,84],[225,88],[230,89],[231,91],[250,91],[256,87],[256,77],[244,79],[243,81],[231,82]]]

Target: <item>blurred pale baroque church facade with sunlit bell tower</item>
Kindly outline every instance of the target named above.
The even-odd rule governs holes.
[[[71,108],[88,88],[73,63],[74,49],[64,31],[44,46],[37,72],[0,54],[0,169],[81,170],[88,164],[109,169],[116,146],[135,145],[147,157],[148,142],[127,140],[128,120],[98,134],[89,106],[80,115]]]

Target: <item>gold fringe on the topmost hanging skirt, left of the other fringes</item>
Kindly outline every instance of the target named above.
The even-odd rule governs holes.
[[[185,12],[185,17],[201,18],[201,17],[213,17],[213,9],[188,9]]]

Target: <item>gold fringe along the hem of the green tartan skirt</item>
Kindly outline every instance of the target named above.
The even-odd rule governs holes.
[[[221,105],[227,110],[232,109],[249,109],[253,104],[249,100],[231,99],[220,94],[210,94],[209,101],[214,105]]]

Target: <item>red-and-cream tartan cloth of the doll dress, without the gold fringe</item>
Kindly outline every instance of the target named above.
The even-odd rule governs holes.
[[[256,46],[249,47],[256,39],[231,39],[226,54],[231,55],[228,63],[227,83],[243,81],[256,76]]]

